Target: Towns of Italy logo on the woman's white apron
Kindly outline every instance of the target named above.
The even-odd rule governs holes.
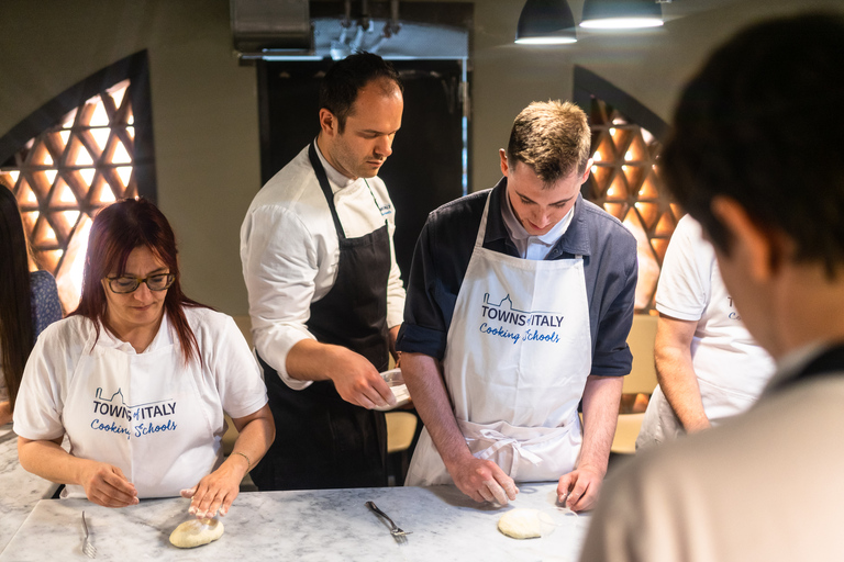
[[[118,392],[107,398],[103,397],[102,387],[98,387],[92,402],[91,429],[97,431],[125,435],[126,439],[130,439],[133,434],[140,438],[162,431],[175,431],[177,427],[173,419],[163,419],[176,413],[176,401],[171,398],[130,406],[123,398],[122,389],[119,387]],[[133,419],[136,423],[134,425]],[[118,424],[118,420],[127,423]]]

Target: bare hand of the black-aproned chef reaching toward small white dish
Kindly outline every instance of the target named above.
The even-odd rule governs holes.
[[[340,396],[367,409],[396,405],[390,386],[364,356],[343,349],[343,361],[329,374]]]

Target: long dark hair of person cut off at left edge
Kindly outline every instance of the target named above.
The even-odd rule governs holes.
[[[32,352],[30,265],[26,237],[14,194],[0,182],[0,366],[14,409],[23,368]]]

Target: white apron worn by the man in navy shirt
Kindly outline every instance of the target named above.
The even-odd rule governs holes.
[[[577,464],[577,406],[591,370],[581,257],[525,260],[482,247],[489,198],[455,303],[445,384],[473,454],[520,482],[553,481]],[[451,484],[422,430],[407,485]]]

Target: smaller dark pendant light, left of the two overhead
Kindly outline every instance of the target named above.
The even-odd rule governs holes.
[[[519,16],[515,42],[524,45],[575,43],[575,18],[566,0],[528,0]]]

